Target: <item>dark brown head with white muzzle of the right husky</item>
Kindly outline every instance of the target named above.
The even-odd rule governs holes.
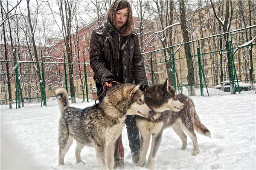
[[[164,84],[154,84],[146,88],[145,102],[154,112],[166,110],[178,112],[184,107],[184,104],[175,96],[174,89],[169,86],[168,78]]]

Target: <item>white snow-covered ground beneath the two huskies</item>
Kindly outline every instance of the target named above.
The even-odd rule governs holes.
[[[163,133],[155,169],[256,169],[256,95],[192,97],[202,123],[212,139],[198,134],[201,153],[192,156],[171,128]],[[73,104],[84,108],[89,104]],[[1,111],[1,169],[97,169],[93,148],[84,147],[76,164],[75,142],[65,165],[58,165],[58,106]],[[144,170],[131,161],[126,128],[123,132],[125,170]],[[117,168],[120,169],[120,168]]]

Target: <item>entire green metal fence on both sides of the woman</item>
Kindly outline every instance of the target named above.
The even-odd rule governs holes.
[[[247,40],[246,36],[250,30],[253,40],[251,43],[247,43],[250,40]],[[224,35],[228,37],[229,49],[225,48]],[[186,95],[255,94],[256,38],[254,37],[256,37],[256,25],[143,53],[148,83],[162,83],[168,77],[175,91],[183,92]],[[189,66],[185,55],[184,46],[186,45],[189,46],[192,57],[192,65]],[[227,62],[228,52],[230,54],[229,63]],[[253,58],[253,79],[250,78],[250,55]],[[42,52],[41,58],[45,58]],[[63,86],[70,95],[69,64],[74,67],[74,73],[71,76],[74,78],[76,102],[82,103],[85,102],[85,99],[88,102],[89,99],[93,99],[93,94],[95,94],[92,72],[87,72],[86,68],[89,64],[85,59],[83,63],[68,63],[66,56],[63,55],[63,58],[58,58],[56,62],[48,60],[17,61],[15,50],[14,61],[1,60],[0,62],[2,66],[8,63],[12,68],[9,70],[12,79],[12,108],[23,107],[22,104],[24,107],[56,105],[57,101],[55,101],[53,91],[59,86]],[[41,65],[41,82],[36,73],[36,63]],[[221,81],[221,66],[223,81]],[[232,72],[231,81],[228,66]],[[191,72],[191,69],[187,69],[188,67],[193,68],[193,84],[188,84],[187,81],[188,72]],[[0,110],[9,109],[6,76],[4,69],[0,69]],[[41,84],[42,90],[39,84]]]

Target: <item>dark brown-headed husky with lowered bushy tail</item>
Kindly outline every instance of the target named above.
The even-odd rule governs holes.
[[[183,94],[175,95],[174,89],[168,84],[168,79],[164,84],[148,86],[144,98],[146,104],[153,110],[153,114],[145,117],[137,116],[137,127],[141,134],[140,159],[137,165],[141,167],[144,165],[152,135],[147,167],[154,169],[154,160],[161,143],[163,130],[170,126],[180,137],[182,150],[185,150],[187,145],[187,136],[184,131],[189,135],[194,146],[192,155],[197,155],[199,148],[194,130],[209,137],[211,134],[198,118],[191,98]],[[171,107],[166,108],[163,101],[168,101]]]

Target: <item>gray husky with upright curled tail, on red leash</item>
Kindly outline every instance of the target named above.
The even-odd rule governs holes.
[[[139,85],[119,84],[106,92],[103,100],[92,107],[70,107],[65,89],[55,91],[59,98],[61,118],[59,121],[59,164],[73,139],[76,140],[76,162],[81,162],[84,146],[95,147],[100,169],[113,169],[116,139],[121,135],[126,115],[147,116],[152,111],[145,104]]]

